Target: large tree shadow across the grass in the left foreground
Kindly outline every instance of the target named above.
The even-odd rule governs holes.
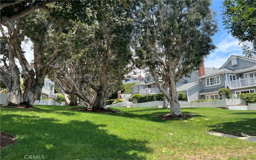
[[[4,114],[1,130],[18,135],[15,144],[1,150],[2,159],[44,155],[44,159],[146,159],[147,141],[122,139],[90,121]]]

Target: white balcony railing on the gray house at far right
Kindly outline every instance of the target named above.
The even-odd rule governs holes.
[[[225,81],[225,84],[226,84],[226,87],[228,86],[228,88],[254,85],[254,84],[256,84],[256,77],[238,79],[238,80],[234,80],[234,81]]]

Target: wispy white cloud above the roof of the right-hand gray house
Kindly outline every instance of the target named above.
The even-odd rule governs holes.
[[[231,55],[243,55],[241,45],[239,45],[237,39],[231,35],[223,35],[219,39],[220,42],[216,44],[218,49],[205,60],[205,67],[220,68]]]

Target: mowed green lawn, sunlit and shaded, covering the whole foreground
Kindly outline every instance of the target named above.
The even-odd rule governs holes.
[[[1,159],[256,159],[255,142],[207,134],[256,136],[256,111],[182,108],[193,118],[161,120],[156,116],[169,109],[89,113],[68,106],[36,107],[41,109],[1,108],[1,132],[18,138],[1,150]]]

